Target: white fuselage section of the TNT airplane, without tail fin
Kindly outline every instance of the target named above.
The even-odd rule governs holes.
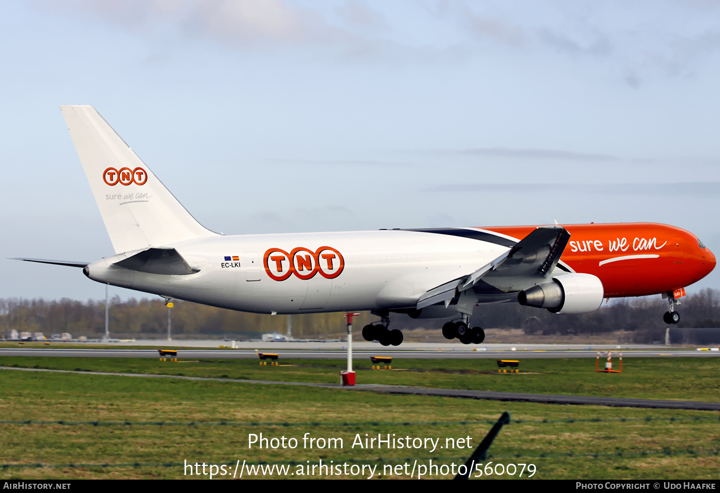
[[[246,312],[401,309],[415,307],[425,291],[508,250],[477,239],[407,230],[216,236],[163,248],[175,248],[198,272],[160,275],[112,265],[129,252],[92,263],[87,275]]]

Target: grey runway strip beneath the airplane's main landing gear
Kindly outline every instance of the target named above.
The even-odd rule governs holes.
[[[317,346],[317,345],[315,345]],[[163,345],[160,348],[174,348]],[[178,349],[178,358],[201,359],[255,359],[258,352],[277,353],[281,359],[343,359],[345,350],[320,349],[284,349],[284,350],[248,350],[248,349]],[[622,353],[626,358],[712,358],[720,356],[720,351],[698,350],[613,350],[613,355]],[[81,348],[0,348],[0,356],[50,356],[73,358],[158,358],[155,349],[81,349]],[[370,356],[389,356],[392,358],[418,359],[518,359],[518,358],[595,358],[597,350],[397,350],[378,346],[377,349],[353,350],[353,359],[366,359]]]

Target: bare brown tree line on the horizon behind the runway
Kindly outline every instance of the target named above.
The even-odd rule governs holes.
[[[681,314],[677,327],[720,327],[720,291],[702,289],[697,294],[680,298]],[[485,328],[522,328],[526,333],[581,334],[609,333],[618,330],[660,333],[665,330],[662,313],[667,300],[660,296],[613,299],[597,312],[582,315],[556,315],[544,309],[523,307],[517,303],[481,304],[475,309],[473,324]],[[440,328],[442,320],[413,320],[407,315],[391,314],[393,328]],[[359,333],[366,323],[378,320],[364,312],[356,320]],[[263,333],[287,332],[285,315],[260,315],[207,307],[191,302],[174,302],[172,333],[179,336],[220,336],[256,338]],[[71,333],[73,337],[99,337],[105,330],[104,301],[79,302],[63,298],[0,299],[0,329],[3,334],[18,332],[51,334]],[[157,338],[167,333],[167,307],[162,299],[122,301],[114,297],[109,306],[109,330],[113,337]],[[295,338],[338,336],[345,333],[342,313],[292,315]],[[356,336],[357,337],[357,336]],[[658,336],[659,337],[659,336]]]

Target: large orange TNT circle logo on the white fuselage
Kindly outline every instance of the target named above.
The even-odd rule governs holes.
[[[328,246],[317,250],[298,247],[290,253],[282,248],[270,248],[265,252],[263,264],[270,279],[284,281],[294,274],[305,281],[318,273],[325,279],[335,279],[345,268],[345,259],[338,250]]]

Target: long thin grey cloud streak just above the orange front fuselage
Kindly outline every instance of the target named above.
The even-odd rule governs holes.
[[[720,198],[720,182],[698,181],[665,184],[448,184],[433,186],[426,192],[477,192],[477,193],[582,193],[598,195],[653,195],[653,196],[702,196]]]

